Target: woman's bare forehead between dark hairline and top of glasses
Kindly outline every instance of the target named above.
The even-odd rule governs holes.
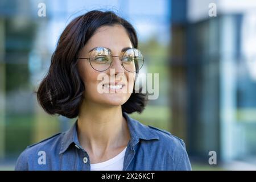
[[[121,25],[102,26],[85,45],[88,52],[94,47],[108,47],[112,52],[121,52],[124,47],[133,47],[129,35]]]

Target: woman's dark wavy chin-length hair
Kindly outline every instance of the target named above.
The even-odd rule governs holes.
[[[134,27],[127,20],[112,11],[89,11],[73,19],[61,34],[55,52],[51,57],[49,71],[40,83],[37,93],[39,104],[48,114],[60,114],[75,118],[83,99],[85,85],[77,69],[79,51],[101,26],[123,26],[134,48],[138,38]],[[137,78],[138,72],[136,73]],[[131,93],[122,105],[122,111],[141,113],[147,102],[147,94]]]

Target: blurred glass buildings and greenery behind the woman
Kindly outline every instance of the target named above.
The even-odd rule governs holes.
[[[193,170],[255,170],[256,0],[1,0],[0,170],[75,121],[44,113],[34,90],[67,24],[95,9],[133,24],[142,71],[159,73],[158,99],[131,117],[183,139]]]

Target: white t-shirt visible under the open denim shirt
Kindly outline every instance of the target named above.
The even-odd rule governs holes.
[[[102,163],[90,164],[91,171],[122,171],[126,148],[114,158]]]

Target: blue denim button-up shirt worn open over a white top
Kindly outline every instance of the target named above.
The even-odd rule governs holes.
[[[191,170],[183,140],[146,126],[123,113],[130,131],[123,171]],[[15,170],[90,170],[90,158],[77,138],[77,121],[64,133],[28,146]]]

